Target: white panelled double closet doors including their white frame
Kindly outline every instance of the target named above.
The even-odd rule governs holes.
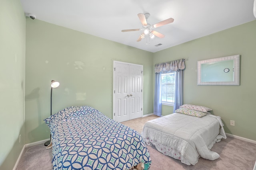
[[[114,120],[142,117],[142,66],[114,62]]]

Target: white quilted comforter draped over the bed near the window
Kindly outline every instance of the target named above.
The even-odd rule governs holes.
[[[160,152],[194,165],[200,156],[209,160],[219,158],[219,154],[210,149],[220,139],[226,139],[226,134],[219,116],[194,117],[173,113],[148,121],[142,137],[147,145],[155,145]],[[169,152],[159,146],[167,147]]]

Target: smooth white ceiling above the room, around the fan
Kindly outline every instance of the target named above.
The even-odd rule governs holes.
[[[253,0],[21,0],[24,12],[36,19],[157,52],[205,35],[255,20]],[[137,16],[150,13],[153,25],[168,18],[174,22],[154,30],[165,35],[146,45]],[[156,44],[162,45],[155,47]]]

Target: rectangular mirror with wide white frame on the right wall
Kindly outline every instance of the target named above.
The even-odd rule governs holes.
[[[197,62],[197,85],[240,85],[240,55]]]

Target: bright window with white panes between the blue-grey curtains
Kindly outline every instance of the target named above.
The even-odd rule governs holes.
[[[161,74],[162,104],[174,105],[175,72]]]

